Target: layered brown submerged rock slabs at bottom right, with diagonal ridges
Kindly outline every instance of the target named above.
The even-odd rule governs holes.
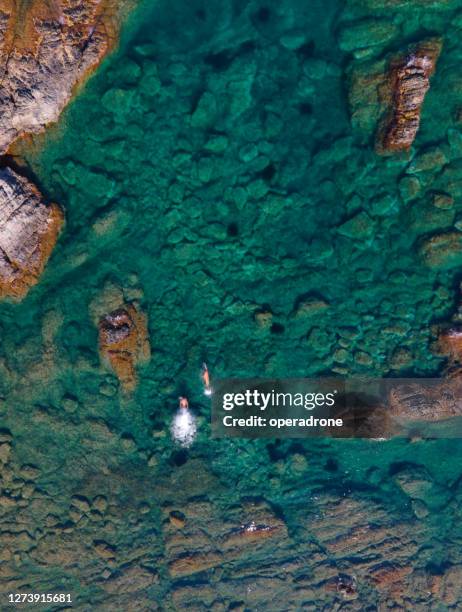
[[[416,480],[420,473],[407,477]],[[423,491],[425,502],[429,494]],[[402,496],[413,501],[405,492]],[[445,568],[437,577],[441,584],[434,584],[436,577],[425,569],[428,531],[411,513],[397,517],[391,504],[357,494],[320,493],[297,515],[298,540],[265,503],[241,502],[224,512],[209,501],[191,499],[183,509],[181,528],[163,523],[176,609],[218,597],[223,607],[237,610],[363,610],[371,600],[379,610],[391,602],[424,610],[438,599],[458,601],[458,593],[442,593],[460,576],[459,566]],[[166,514],[170,510],[164,508]],[[267,538],[249,541],[236,514],[243,521],[257,515],[255,523],[273,530]],[[233,548],[226,546],[229,532],[236,534]],[[195,575],[196,580],[187,580]]]

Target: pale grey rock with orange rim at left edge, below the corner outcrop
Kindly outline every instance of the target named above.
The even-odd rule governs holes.
[[[26,178],[0,170],[0,298],[22,298],[38,281],[63,224]]]

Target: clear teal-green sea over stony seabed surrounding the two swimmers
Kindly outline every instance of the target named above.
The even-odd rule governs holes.
[[[214,439],[200,377],[446,373],[461,25],[459,0],[147,1],[31,138],[66,226],[27,299],[0,303],[3,592],[85,612],[462,606],[460,440]],[[392,62],[429,37],[412,146],[378,155]],[[395,414],[433,418],[411,391]]]

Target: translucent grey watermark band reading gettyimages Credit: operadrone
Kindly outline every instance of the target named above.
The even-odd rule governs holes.
[[[212,435],[462,438],[462,382],[338,378],[215,381]]]

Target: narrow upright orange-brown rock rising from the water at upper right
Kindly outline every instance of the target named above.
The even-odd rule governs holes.
[[[379,152],[406,151],[414,142],[440,51],[441,41],[432,38],[392,62],[388,83],[390,108],[378,133]]]

